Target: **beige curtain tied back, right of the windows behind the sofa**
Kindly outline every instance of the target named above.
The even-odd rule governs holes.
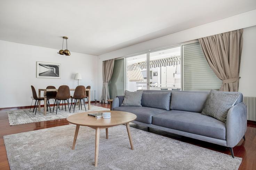
[[[199,39],[205,57],[219,79],[220,91],[237,92],[243,29]]]

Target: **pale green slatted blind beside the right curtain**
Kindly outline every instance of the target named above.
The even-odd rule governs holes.
[[[183,45],[183,63],[184,90],[219,90],[222,81],[211,70],[199,42]]]

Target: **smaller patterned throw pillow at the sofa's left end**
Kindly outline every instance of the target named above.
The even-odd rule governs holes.
[[[141,106],[142,90],[137,92],[125,91],[122,106]]]

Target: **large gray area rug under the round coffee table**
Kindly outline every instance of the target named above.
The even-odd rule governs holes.
[[[10,168],[20,169],[238,169],[241,158],[126,126],[101,130],[98,167],[94,167],[95,130],[80,127],[71,150],[75,125],[4,136]]]

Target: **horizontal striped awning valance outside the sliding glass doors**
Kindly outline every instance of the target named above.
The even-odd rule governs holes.
[[[141,69],[147,68],[147,62],[139,63],[141,65]],[[166,67],[166,66],[175,66],[181,64],[181,56],[169,57],[159,60],[151,60],[150,61],[150,68],[157,68],[157,67]]]

